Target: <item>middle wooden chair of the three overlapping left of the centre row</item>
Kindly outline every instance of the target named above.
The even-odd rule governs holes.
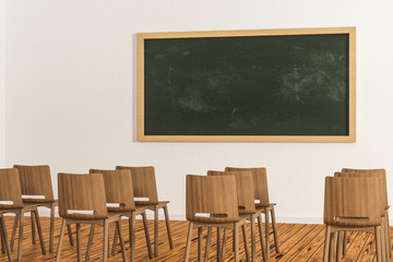
[[[103,174],[105,193],[109,214],[118,214],[129,217],[130,250],[131,261],[135,260],[135,216],[142,215],[145,230],[147,252],[150,259],[153,259],[152,245],[150,240],[148,226],[146,219],[145,206],[135,206],[132,186],[132,176],[129,169],[122,170],[103,170],[90,169],[90,174]],[[117,206],[112,206],[116,204]],[[91,228],[91,236],[94,234],[94,224]],[[116,252],[118,231],[115,231],[112,255]]]

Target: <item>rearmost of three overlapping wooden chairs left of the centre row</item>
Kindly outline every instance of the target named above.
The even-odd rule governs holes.
[[[154,257],[158,257],[158,210],[159,209],[164,210],[168,240],[169,240],[169,248],[174,249],[174,242],[172,242],[170,225],[169,225],[169,214],[168,214],[169,201],[158,201],[154,167],[117,166],[116,169],[131,170],[136,207],[143,206],[154,212]]]

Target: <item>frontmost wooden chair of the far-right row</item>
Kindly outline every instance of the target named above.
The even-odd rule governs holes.
[[[383,204],[380,201],[380,180],[365,178],[325,178],[324,216],[326,236],[323,261],[341,261],[343,247],[337,236],[343,231],[368,231],[376,235],[377,261],[385,262]],[[341,241],[343,238],[338,238]],[[337,249],[337,250],[336,250]],[[336,257],[336,258],[335,258]]]

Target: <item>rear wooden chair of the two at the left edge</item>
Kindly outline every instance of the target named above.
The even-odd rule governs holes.
[[[27,204],[36,204],[45,206],[50,210],[50,227],[49,227],[49,253],[53,252],[53,228],[55,228],[55,207],[59,205],[53,198],[52,183],[49,166],[21,166],[14,165],[17,169],[22,187],[22,200]],[[36,243],[35,226],[33,223],[34,212],[31,214],[32,218],[32,239]],[[17,215],[15,216],[14,227],[12,230],[11,249],[15,240],[15,231],[17,228]],[[68,226],[70,243],[73,246],[71,226]]]

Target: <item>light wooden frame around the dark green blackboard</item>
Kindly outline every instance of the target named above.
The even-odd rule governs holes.
[[[239,36],[288,36],[347,34],[349,36],[349,134],[348,135],[146,135],[145,134],[145,39],[165,38],[204,38]],[[172,32],[139,33],[136,36],[136,74],[138,74],[138,141],[141,142],[356,142],[356,27],[290,28],[290,29],[250,29],[250,31],[212,31],[212,32]]]

